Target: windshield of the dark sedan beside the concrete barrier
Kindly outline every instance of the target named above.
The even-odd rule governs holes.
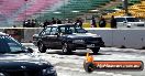
[[[62,25],[58,28],[58,31],[64,34],[71,33],[87,33],[87,31],[78,25]]]

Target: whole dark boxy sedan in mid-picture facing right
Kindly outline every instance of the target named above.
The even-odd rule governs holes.
[[[45,28],[40,34],[33,35],[34,45],[41,53],[47,48],[63,50],[70,54],[75,50],[90,48],[97,54],[104,45],[102,39],[75,24],[54,24]]]

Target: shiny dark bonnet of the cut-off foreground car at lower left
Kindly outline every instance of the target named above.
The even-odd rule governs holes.
[[[51,67],[48,62],[26,54],[4,54],[0,55],[0,70],[5,69],[41,69]]]

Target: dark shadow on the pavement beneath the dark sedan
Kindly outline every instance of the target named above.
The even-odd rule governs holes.
[[[48,52],[46,52],[46,54],[86,56],[87,52],[77,52],[76,51],[76,52],[72,52],[71,54],[63,54],[62,51],[48,51]],[[111,54],[105,54],[105,53],[93,54],[93,53],[90,53],[90,55],[111,55]]]

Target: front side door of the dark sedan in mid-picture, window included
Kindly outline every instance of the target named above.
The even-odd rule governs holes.
[[[59,40],[57,26],[53,26],[51,29],[49,41],[51,41],[51,45],[53,48],[59,48],[60,47],[60,40]]]

